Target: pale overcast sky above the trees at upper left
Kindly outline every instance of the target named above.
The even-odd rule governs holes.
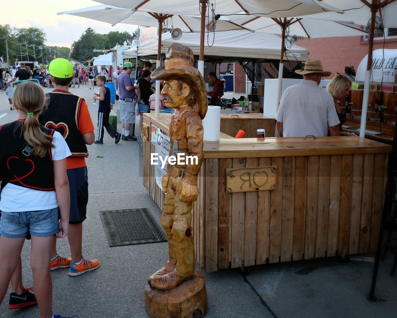
[[[56,14],[57,12],[100,5],[100,3],[91,0],[19,0],[17,6],[13,6],[10,1],[5,3],[5,6],[2,4],[2,11],[4,11],[0,23],[10,24],[11,27],[40,27],[47,35],[46,45],[70,47],[87,27],[92,27],[97,33],[128,31],[131,34],[137,28],[136,25],[129,24],[116,24],[112,27],[108,23],[83,17],[70,14],[58,16]]]

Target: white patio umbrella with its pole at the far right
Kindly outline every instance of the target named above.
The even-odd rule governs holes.
[[[384,27],[397,27],[397,2],[396,0],[323,0],[324,4],[338,6],[345,11],[345,14],[338,16],[333,12],[314,14],[310,17],[331,21],[353,21],[358,25],[367,25],[371,19],[370,38],[368,47],[368,62],[364,80],[364,96],[362,99],[362,112],[360,124],[360,137],[365,136],[365,126],[368,109],[368,94],[370,89],[372,47],[374,41],[376,16],[382,19]]]

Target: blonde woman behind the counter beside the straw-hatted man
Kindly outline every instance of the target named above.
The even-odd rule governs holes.
[[[339,118],[339,131],[341,132],[341,136],[356,136],[353,133],[342,132],[342,124],[346,121],[346,113],[341,111],[339,103],[341,99],[344,99],[347,95],[349,95],[350,90],[351,80],[342,74],[335,76],[327,85],[327,91],[333,97],[336,114]]]

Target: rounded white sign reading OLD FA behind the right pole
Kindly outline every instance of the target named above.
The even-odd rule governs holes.
[[[356,81],[364,81],[367,69],[368,55],[364,57],[357,68]],[[372,52],[371,81],[394,83],[394,72],[397,72],[397,50],[374,50]]]

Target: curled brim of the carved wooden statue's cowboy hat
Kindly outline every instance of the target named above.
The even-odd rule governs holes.
[[[208,109],[207,90],[204,78],[193,66],[179,65],[166,70],[165,66],[159,66],[151,75],[152,80],[178,80],[186,83],[191,93],[196,95],[198,114],[203,119]]]

